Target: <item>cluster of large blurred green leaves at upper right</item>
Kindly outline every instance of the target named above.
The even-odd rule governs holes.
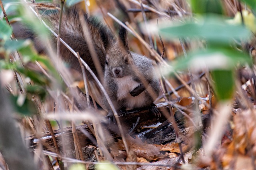
[[[234,93],[234,68],[252,64],[248,52],[242,49],[242,43],[250,41],[252,33],[242,23],[231,24],[228,18],[222,15],[219,0],[191,0],[191,6],[192,11],[200,16],[195,17],[193,21],[169,26],[160,25],[160,33],[168,39],[177,37],[184,40],[204,40],[206,49],[188,53],[188,57],[179,59],[172,66],[175,70],[210,69],[218,99],[231,99]],[[249,20],[254,21],[254,18],[250,16]],[[255,23],[250,23],[250,27],[254,28]],[[240,42],[240,45],[234,45],[234,42]]]

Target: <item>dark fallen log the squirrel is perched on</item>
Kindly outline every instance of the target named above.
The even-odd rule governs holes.
[[[157,107],[159,110],[166,109],[167,104],[165,104],[165,103],[158,104]],[[141,131],[142,127],[145,125],[153,125],[153,124],[156,124],[159,122],[162,123],[162,122],[166,121],[166,118],[163,115],[161,117],[156,117],[152,113],[149,113],[149,111],[146,109],[131,110],[131,111],[128,111],[128,113],[126,115],[119,117],[120,121],[122,122],[123,129],[124,129],[125,133],[129,133],[129,129],[132,129],[132,127],[136,123],[138,117],[140,117],[140,120],[139,120],[138,125],[136,126],[134,131]],[[119,131],[117,131],[118,128],[116,127],[116,125],[109,126],[109,125],[102,123],[102,127],[103,127],[104,131],[108,131],[112,135],[110,137],[107,136],[107,138],[109,138],[109,139],[105,139],[106,141],[112,141],[113,138],[115,139],[115,138],[120,137]],[[95,140],[95,138],[92,135],[92,132],[90,131],[90,129],[88,128],[87,125],[77,126],[76,131],[78,133],[78,138],[79,138],[80,145],[82,148],[86,147],[88,145],[94,145],[94,146],[96,145],[96,143],[92,142]],[[83,131],[86,131],[87,135],[85,135],[83,133]],[[55,130],[54,134],[55,134],[56,141],[58,143],[58,147],[60,148],[60,150],[62,150],[61,139],[63,139],[61,135],[64,135],[65,149],[66,150],[74,149],[74,138],[73,138],[73,134],[72,134],[72,127],[64,128],[63,133],[61,133],[60,129]],[[26,141],[27,145],[29,146],[29,148],[31,148],[31,149],[36,149],[38,144],[42,143],[45,150],[55,152],[54,143],[53,143],[52,136],[51,136],[50,132],[41,133],[41,134],[37,134],[37,135],[36,134],[30,135],[25,138],[25,141]]]

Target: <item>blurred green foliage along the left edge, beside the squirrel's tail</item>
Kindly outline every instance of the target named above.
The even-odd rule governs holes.
[[[46,37],[45,35],[47,32],[46,29],[42,27],[42,25],[36,21],[30,20],[31,16],[26,16],[24,9],[22,6],[16,6],[15,8],[8,8],[9,10],[12,9],[15,12],[13,15],[14,18],[16,16],[20,16],[20,19],[26,23],[30,24],[33,27],[40,28],[37,29],[38,33],[40,33],[40,36]],[[10,12],[10,11],[9,11]],[[20,15],[23,14],[23,15]],[[34,49],[32,42],[28,39],[26,40],[11,40],[12,29],[11,27],[6,23],[6,21],[0,20],[0,52],[2,53],[4,58],[0,58],[0,70],[1,69],[10,69],[16,71],[18,74],[22,75],[25,78],[28,78],[26,80],[26,84],[24,84],[25,93],[26,96],[11,96],[11,102],[13,104],[14,110],[16,112],[22,113],[24,115],[30,115],[36,113],[36,107],[34,106],[34,102],[32,102],[32,96],[38,95],[40,100],[44,101],[47,91],[46,87],[50,86],[51,80],[46,75],[42,74],[42,72],[31,70],[28,67],[24,67],[20,64],[20,61],[15,62],[12,60],[12,63],[9,60],[9,57],[12,53],[18,53],[22,56],[22,63],[35,63],[36,61],[40,62],[44,69],[48,70],[50,72],[50,75],[57,78],[57,80],[60,81],[60,76],[56,72],[56,69],[51,64],[48,58],[42,57],[38,55],[36,50]],[[29,82],[28,82],[29,81]],[[32,82],[32,83],[30,83]],[[30,95],[28,95],[30,94]]]

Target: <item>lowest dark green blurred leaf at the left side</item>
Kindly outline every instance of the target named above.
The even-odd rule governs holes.
[[[13,104],[13,108],[16,112],[23,115],[33,115],[37,113],[34,102],[24,96],[11,96],[10,100]]]

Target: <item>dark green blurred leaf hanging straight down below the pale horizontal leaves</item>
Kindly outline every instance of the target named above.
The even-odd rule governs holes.
[[[231,99],[234,94],[234,74],[232,70],[214,70],[211,72],[214,90],[219,100]]]

